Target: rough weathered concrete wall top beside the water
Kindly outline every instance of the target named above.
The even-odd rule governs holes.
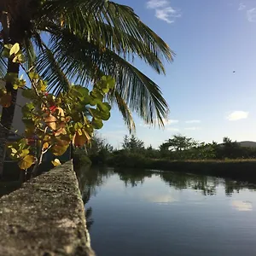
[[[0,199],[0,255],[95,255],[71,161]]]

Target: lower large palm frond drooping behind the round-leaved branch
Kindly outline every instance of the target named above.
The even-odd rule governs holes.
[[[50,49],[67,79],[84,84],[85,79],[98,79],[103,73],[116,79],[115,91],[147,124],[163,125],[168,106],[160,88],[131,63],[109,49],[102,52],[98,46],[74,35],[52,38]],[[112,98],[115,98],[113,94]]]

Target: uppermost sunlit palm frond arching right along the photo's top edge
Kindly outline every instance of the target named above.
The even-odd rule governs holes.
[[[143,24],[130,7],[105,0],[76,2],[71,7],[70,1],[62,1],[62,9],[57,9],[59,1],[54,2],[61,27],[100,48],[112,49],[125,59],[130,55],[139,56],[152,67],[157,61],[158,72],[164,72],[163,59],[172,61],[174,54],[169,46]],[[55,30],[56,25],[57,22],[49,22],[47,27]]]

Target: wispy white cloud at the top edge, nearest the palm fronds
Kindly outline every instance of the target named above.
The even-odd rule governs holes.
[[[149,0],[147,8],[154,9],[155,17],[169,24],[181,17],[180,11],[173,9],[171,3],[167,0]]]

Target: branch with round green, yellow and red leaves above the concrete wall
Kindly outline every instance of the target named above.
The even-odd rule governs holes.
[[[47,90],[47,82],[38,73],[32,72],[32,69],[26,70],[26,60],[19,44],[4,45],[3,56],[19,63],[32,84],[32,88],[28,88],[26,80],[18,79],[14,73],[8,73],[4,78],[13,84],[15,90],[22,89],[22,96],[28,100],[21,108],[25,133],[22,139],[8,145],[9,155],[19,160],[20,169],[27,171],[34,165],[32,174],[35,175],[47,152],[60,156],[71,144],[74,147],[89,145],[94,130],[101,129],[103,121],[110,118],[111,107],[104,99],[109,90],[113,90],[114,79],[103,76],[95,82],[91,91],[81,85],[70,85],[67,91],[55,96]],[[5,88],[0,89],[3,108],[8,108],[11,101],[12,96]],[[38,141],[38,155],[33,154],[38,146],[32,148],[28,145],[30,138]],[[52,163],[54,166],[61,164],[57,159]]]

